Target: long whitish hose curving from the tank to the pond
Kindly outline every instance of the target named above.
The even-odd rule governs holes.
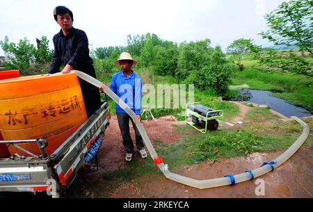
[[[84,79],[85,81],[88,81],[89,83],[97,86],[98,88],[104,88],[104,92],[111,97],[117,104],[120,105],[120,107],[134,120],[136,127],[138,131],[141,133],[141,137],[143,138],[145,145],[150,152],[150,156],[154,160],[154,158],[157,158],[157,152],[155,152],[154,147],[152,146],[152,143],[150,139],[147,136],[147,133],[145,132],[145,129],[143,129],[143,124],[139,122],[138,118],[136,117],[136,114],[134,111],[125,104],[122,99],[118,97],[118,95],[115,95],[114,92],[111,91],[110,88],[108,88],[104,83],[98,81],[97,79],[93,78],[92,76],[89,76],[88,74],[85,74],[80,71],[74,71],[76,72],[77,76],[79,76],[81,79]],[[303,132],[299,136],[299,138],[294,142],[289,149],[287,149],[283,154],[281,154],[278,158],[275,158],[274,164],[272,165],[263,165],[262,167],[256,168],[255,170],[251,170],[250,172],[244,172],[242,174],[236,174],[234,176],[230,177],[221,177],[221,178],[216,178],[216,179],[204,179],[204,180],[198,180],[198,179],[191,179],[188,177],[184,177],[179,174],[175,174],[170,172],[168,170],[168,165],[164,163],[159,163],[158,167],[160,168],[161,172],[168,178],[173,181],[177,181],[181,184],[185,184],[188,186],[192,186],[195,188],[213,188],[213,187],[218,187],[218,186],[227,186],[232,183],[240,183],[243,181],[247,181],[252,179],[252,175],[254,177],[259,177],[263,174],[266,174],[267,172],[271,172],[274,168],[277,168],[278,166],[282,165],[285,161],[287,161],[299,148],[301,145],[303,145],[303,142],[307,139],[307,136],[309,136],[310,133],[310,128],[309,126],[300,120],[298,117],[291,116],[291,119],[296,120],[298,123],[300,123],[303,127]],[[233,177],[233,179],[232,179]],[[232,181],[234,180],[234,181]]]

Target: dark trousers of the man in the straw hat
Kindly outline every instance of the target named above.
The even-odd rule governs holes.
[[[133,122],[131,117],[127,113],[116,113],[118,116],[118,126],[120,127],[120,132],[122,133],[123,145],[127,153],[134,152],[134,144],[133,140],[131,140],[131,136],[129,133],[129,120],[133,124],[135,134],[136,134],[136,146],[138,150],[145,148],[145,143],[143,142],[143,138],[141,138],[141,133],[139,133],[136,124]]]

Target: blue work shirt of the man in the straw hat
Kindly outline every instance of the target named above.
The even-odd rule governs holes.
[[[110,88],[131,108],[136,115],[141,114],[141,92],[143,83],[141,77],[131,70],[128,77],[121,71],[112,76]],[[116,113],[126,113],[118,104],[115,104]]]

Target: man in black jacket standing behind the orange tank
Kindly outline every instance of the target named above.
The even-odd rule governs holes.
[[[79,70],[96,78],[93,59],[89,56],[87,35],[73,27],[72,11],[65,6],[57,6],[54,8],[54,19],[61,26],[61,30],[53,38],[54,58],[48,70],[49,74],[59,72],[63,64],[65,67],[62,74]],[[82,79],[79,79],[79,83],[87,115],[90,117],[101,106],[99,89]]]

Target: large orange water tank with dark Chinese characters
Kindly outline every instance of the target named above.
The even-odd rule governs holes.
[[[88,119],[74,73],[0,80],[0,133],[4,140],[42,138],[48,154]],[[40,155],[36,143],[19,144]],[[10,154],[28,156],[13,145]]]

